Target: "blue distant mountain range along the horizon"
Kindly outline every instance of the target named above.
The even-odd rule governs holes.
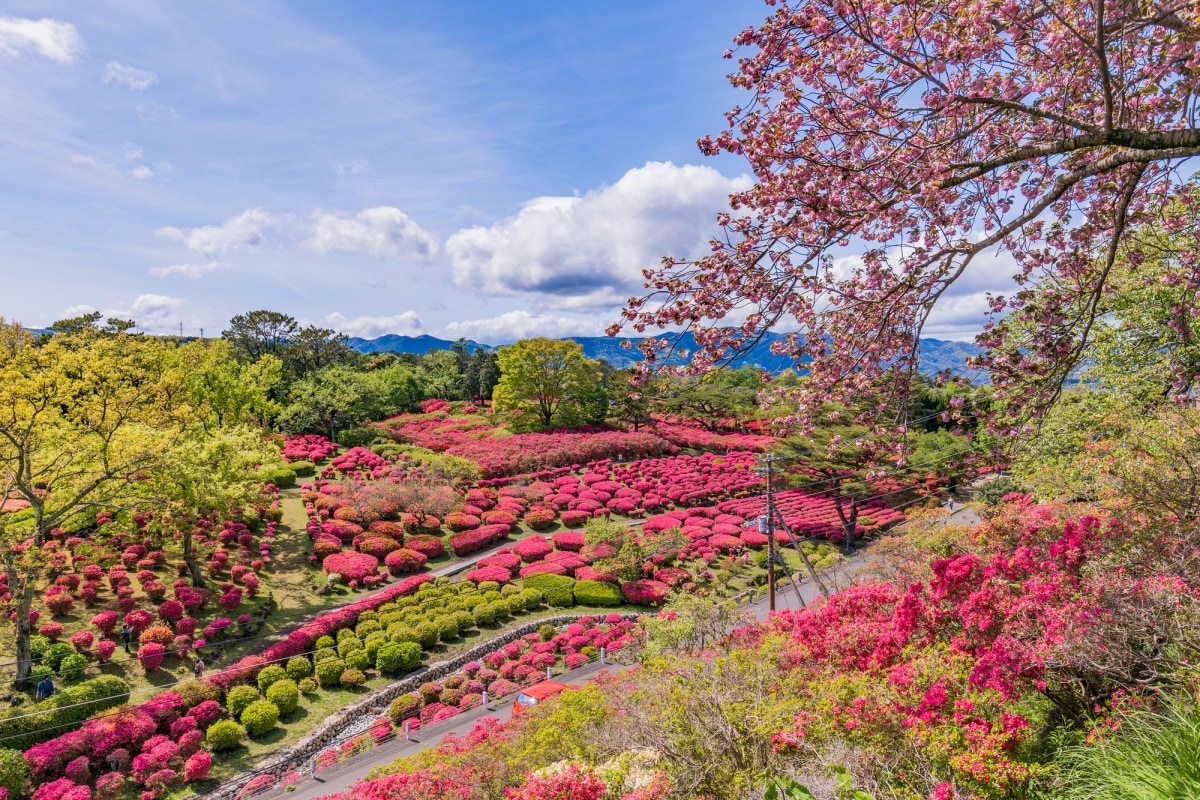
[[[604,359],[618,369],[631,367],[642,360],[642,351],[637,349],[637,344],[642,341],[640,338],[610,336],[572,336],[568,338],[578,342],[583,348],[584,355],[589,359]],[[750,365],[775,374],[794,367],[796,362],[788,356],[776,355],[770,351],[772,343],[782,338],[780,333],[768,333],[748,353],[734,359],[732,366],[742,367]],[[413,353],[416,355],[425,355],[431,350],[449,350],[450,345],[454,344],[451,341],[439,339],[436,336],[398,336],[395,333],[380,336],[376,339],[350,337],[348,343],[360,353]],[[626,343],[629,343],[628,348]],[[470,339],[467,339],[466,344],[468,353],[474,353],[475,348],[484,348],[485,350],[496,349],[494,345],[481,344]],[[691,333],[684,333],[676,343],[676,353],[670,357],[664,357],[661,363],[671,366],[685,363],[686,359],[679,355],[679,351],[690,353],[695,349],[695,337]],[[954,372],[964,372],[967,356],[978,355],[978,353],[979,348],[970,342],[922,339],[920,371],[926,375],[947,368]],[[971,377],[973,380],[980,378],[979,374],[971,374]]]

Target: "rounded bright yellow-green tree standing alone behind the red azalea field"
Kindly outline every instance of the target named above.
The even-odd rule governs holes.
[[[599,366],[570,339],[522,339],[497,353],[500,380],[492,392],[498,411],[515,411],[522,427],[578,425],[595,402]]]

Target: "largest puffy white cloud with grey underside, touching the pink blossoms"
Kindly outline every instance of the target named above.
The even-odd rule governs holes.
[[[649,162],[582,197],[536,198],[516,217],[450,236],[454,281],[560,308],[622,303],[664,255],[708,252],[716,213],[749,185],[709,167]]]

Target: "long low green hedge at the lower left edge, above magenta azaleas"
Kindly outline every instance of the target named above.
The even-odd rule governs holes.
[[[14,750],[25,750],[61,736],[94,714],[124,705],[128,699],[128,684],[116,675],[100,675],[61,688],[36,706],[0,710],[0,740]]]

